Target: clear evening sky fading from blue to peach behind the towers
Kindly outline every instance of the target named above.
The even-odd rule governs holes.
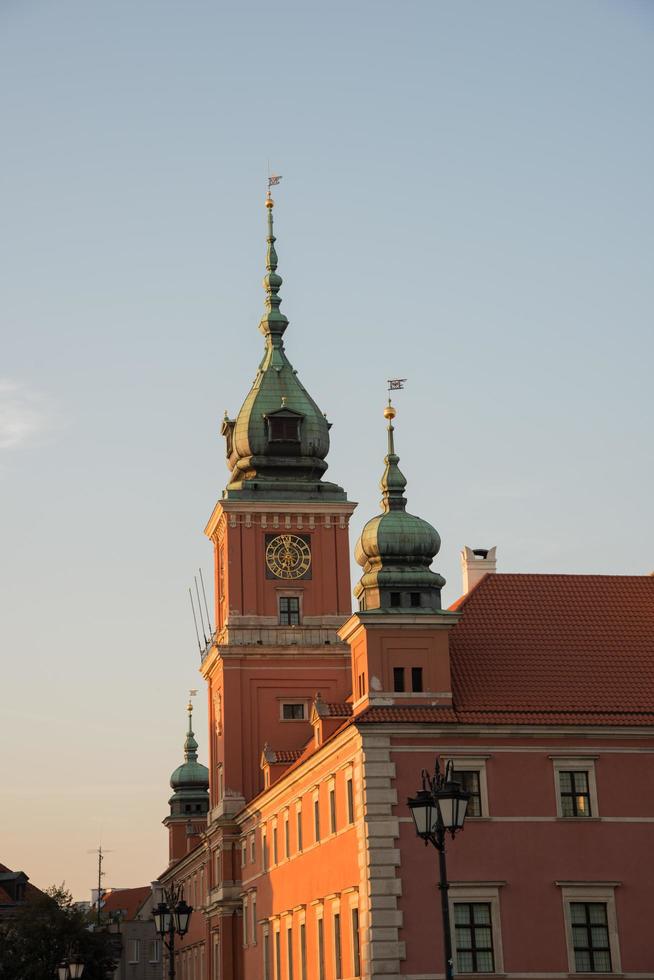
[[[263,350],[275,188],[289,357],[329,477],[498,570],[647,574],[654,6],[0,0],[0,862],[148,883],[206,762],[188,600]]]

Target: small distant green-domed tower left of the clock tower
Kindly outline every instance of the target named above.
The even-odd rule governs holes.
[[[168,800],[170,814],[163,821],[168,827],[169,859],[179,860],[197,843],[207,824],[209,810],[209,770],[198,762],[198,743],[193,732],[193,705],[189,699],[188,729],[184,740],[184,762],[173,772]]]

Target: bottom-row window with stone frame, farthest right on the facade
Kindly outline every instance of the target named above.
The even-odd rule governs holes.
[[[615,887],[619,882],[558,882],[563,891],[571,973],[621,973]]]

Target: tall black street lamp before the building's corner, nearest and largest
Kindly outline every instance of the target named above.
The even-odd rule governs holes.
[[[452,958],[452,931],[450,929],[450,909],[447,899],[449,884],[447,867],[445,865],[445,834],[452,837],[463,830],[470,794],[461,789],[459,783],[452,778],[452,763],[447,763],[445,773],[441,772],[438,759],[434,775],[430,776],[426,769],[422,770],[422,789],[407,802],[411,810],[416,834],[424,840],[425,846],[433,844],[438,851],[438,870],[440,872],[439,889],[441,893],[441,911],[443,914],[443,942],[445,946],[445,980],[454,977],[454,962]]]

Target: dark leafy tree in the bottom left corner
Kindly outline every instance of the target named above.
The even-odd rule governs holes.
[[[53,980],[74,953],[84,961],[84,980],[107,980],[116,965],[111,937],[89,931],[88,917],[63,884],[29,899],[0,924],[0,980]]]

